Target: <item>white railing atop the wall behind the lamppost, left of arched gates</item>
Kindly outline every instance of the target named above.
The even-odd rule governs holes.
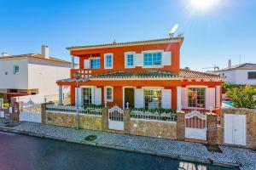
[[[77,113],[77,108],[73,105],[46,105],[46,111],[54,113]],[[97,107],[79,107],[79,114],[102,115],[102,108]]]

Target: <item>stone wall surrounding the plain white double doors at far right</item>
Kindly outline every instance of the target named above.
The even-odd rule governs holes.
[[[246,115],[246,127],[247,127],[247,148],[256,149],[256,110],[241,109],[241,108],[223,108],[222,109],[222,119],[221,119],[221,133],[224,136],[224,115],[225,114],[236,114],[236,115]],[[223,141],[224,143],[224,141]]]

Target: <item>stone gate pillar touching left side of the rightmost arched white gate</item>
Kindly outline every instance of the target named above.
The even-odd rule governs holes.
[[[177,139],[185,139],[185,112],[177,112]]]

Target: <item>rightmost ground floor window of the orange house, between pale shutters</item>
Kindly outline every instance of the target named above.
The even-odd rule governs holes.
[[[205,108],[206,88],[189,88],[189,107]]]

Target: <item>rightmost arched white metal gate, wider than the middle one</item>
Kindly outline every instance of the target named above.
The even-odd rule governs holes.
[[[207,140],[207,116],[200,111],[185,115],[185,138]]]

